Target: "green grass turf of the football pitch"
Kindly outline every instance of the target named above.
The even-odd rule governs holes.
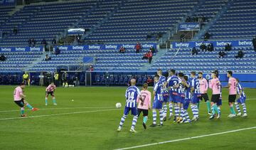
[[[46,107],[45,87],[26,87],[28,102],[40,109],[37,112],[26,110],[28,116],[81,113],[1,120],[19,117],[19,108],[13,102],[14,86],[0,86],[0,149],[117,149],[256,126],[256,90],[245,89],[248,117],[228,119],[228,92],[225,89],[222,117],[219,120],[208,120],[206,103],[201,103],[198,122],[174,124],[167,121],[164,122],[164,127],[148,127],[144,130],[142,117],[139,117],[136,127],[138,133],[132,134],[129,133],[132,124],[132,117],[129,116],[124,122],[122,132],[117,133],[116,129],[123,109],[115,109],[115,104],[122,102],[124,106],[125,89],[125,87],[58,87],[55,92],[58,106],[53,106],[49,98],[49,105]],[[90,112],[105,109],[109,110]],[[3,112],[4,110],[14,111]],[[189,114],[191,116],[191,109]],[[150,125],[151,122],[150,112],[147,124]],[[256,149],[255,141],[256,129],[250,129],[140,149]]]

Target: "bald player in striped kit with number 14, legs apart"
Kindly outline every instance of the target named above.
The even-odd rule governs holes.
[[[132,79],[131,80],[131,86],[129,86],[125,92],[125,97],[126,97],[126,105],[124,107],[124,114],[121,118],[121,121],[119,123],[119,127],[117,129],[117,132],[121,132],[122,129],[122,125],[124,124],[124,120],[127,118],[127,115],[129,114],[129,111],[132,112],[132,115],[134,116],[132,119],[132,127],[130,129],[130,132],[134,132],[135,131],[135,125],[137,123],[137,119],[138,119],[138,112],[137,112],[137,97],[139,97],[139,99],[142,100],[142,96],[141,93],[138,89],[138,87],[135,86],[136,84],[136,80]]]

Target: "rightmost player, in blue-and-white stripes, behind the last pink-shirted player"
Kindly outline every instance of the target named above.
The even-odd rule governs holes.
[[[237,115],[241,116],[241,110],[239,107],[239,104],[240,104],[240,105],[242,105],[242,110],[244,112],[244,114],[242,114],[242,117],[247,117],[247,111],[246,111],[246,106],[245,106],[245,100],[246,100],[245,92],[242,88],[242,85],[240,85],[239,80],[238,79],[236,79],[236,80],[238,82],[237,90],[238,90],[238,95],[239,95],[238,100],[235,102],[235,107],[238,110]]]

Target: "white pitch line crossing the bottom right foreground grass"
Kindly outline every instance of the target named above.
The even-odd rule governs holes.
[[[138,146],[132,146],[132,147],[125,147],[125,148],[121,148],[121,149],[118,149],[118,150],[137,149],[137,148],[140,148],[140,147],[172,143],[172,142],[175,142],[175,141],[186,141],[186,140],[189,140],[189,139],[198,139],[198,138],[206,137],[206,136],[215,136],[215,135],[220,135],[220,134],[228,134],[228,133],[233,133],[233,132],[240,132],[240,131],[244,131],[244,130],[248,130],[248,129],[256,129],[256,127],[248,127],[248,128],[242,128],[242,129],[235,129],[235,130],[230,130],[228,132],[218,132],[218,133],[215,133],[215,134],[205,134],[205,135],[201,135],[201,136],[192,136],[192,137],[187,137],[187,138],[184,138],[184,139],[174,139],[174,140],[171,140],[171,141],[161,141],[161,142],[157,142],[157,143],[144,144],[144,145],[138,145]]]

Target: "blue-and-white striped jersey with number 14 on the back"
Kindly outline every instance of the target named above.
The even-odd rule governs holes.
[[[139,88],[136,86],[130,86],[127,88],[125,92],[125,97],[127,99],[126,101],[126,107],[137,107],[137,97],[139,97],[140,91]]]

